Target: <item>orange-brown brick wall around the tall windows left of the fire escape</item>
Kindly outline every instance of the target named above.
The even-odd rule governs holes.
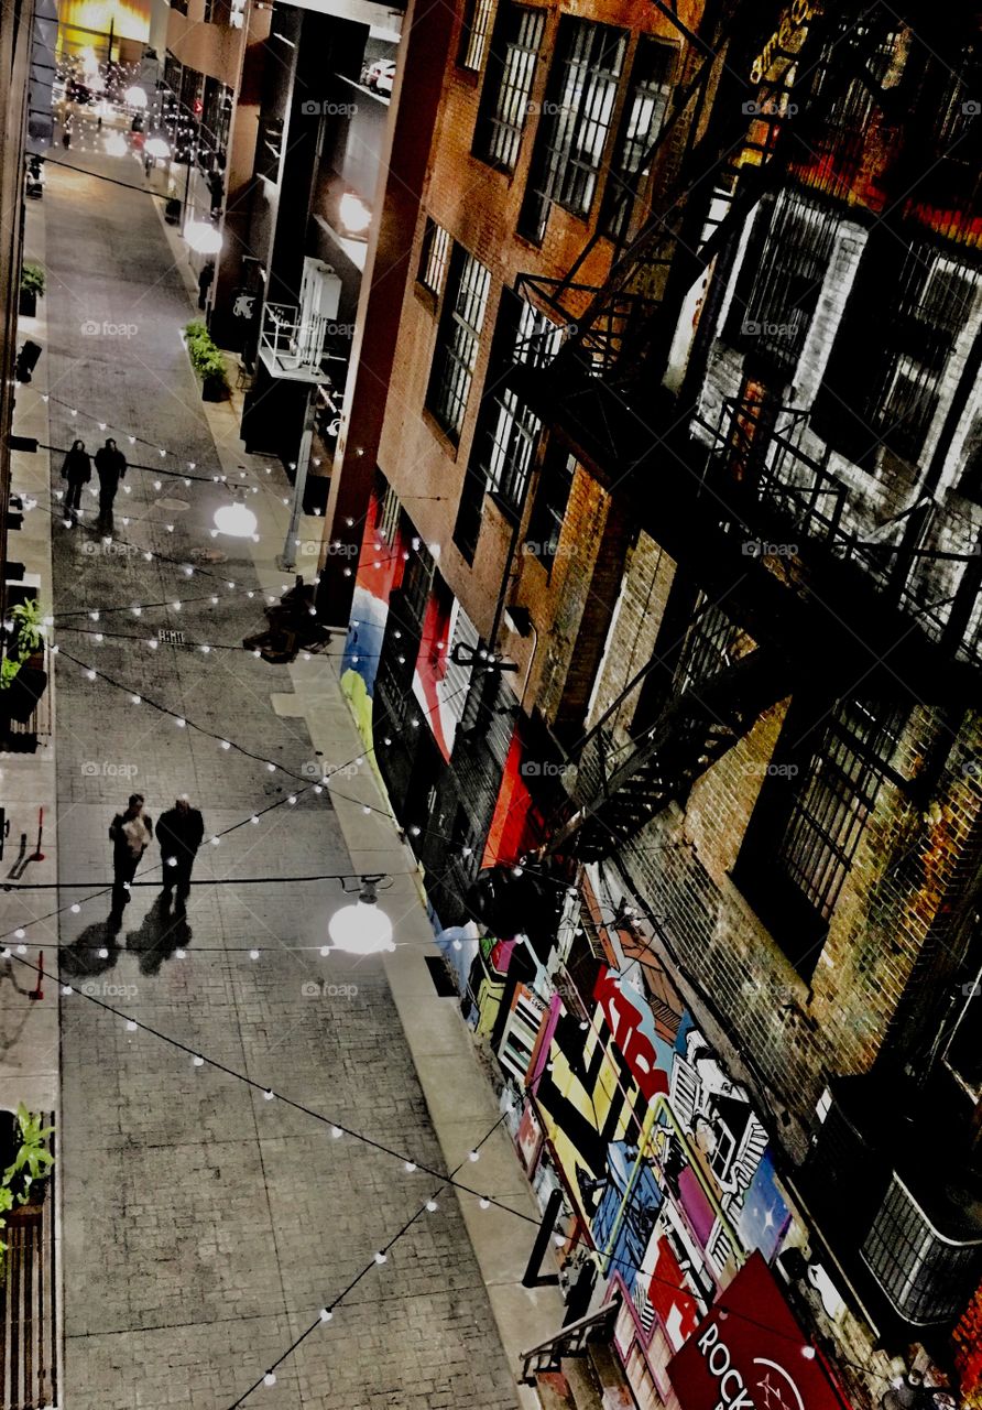
[[[697,25],[700,10],[702,3],[697,0],[685,0],[683,4],[679,4],[679,17],[688,25]],[[448,68],[430,154],[423,206],[427,214],[444,226],[454,240],[465,245],[492,274],[482,350],[458,446],[452,446],[440,433],[424,410],[437,336],[437,313],[433,300],[421,293],[416,285],[423,220],[417,226],[407,262],[406,288],[397,290],[397,296],[403,300],[403,314],[399,352],[379,448],[379,467],[406,503],[421,536],[427,541],[437,541],[442,546],[440,571],[482,633],[487,633],[495,615],[495,603],[510,550],[511,525],[490,499],[485,501],[483,526],[473,564],[469,564],[454,546],[452,532],[473,443],[480,389],[487,371],[487,351],[497,317],[500,292],[503,286],[513,286],[516,278],[523,272],[552,278],[562,276],[578,258],[590,234],[588,221],[558,207],[552,209],[541,247],[535,247],[516,234],[540,121],[537,106],[544,99],[549,56],[554,52],[559,17],[565,14],[619,25],[631,31],[633,37],[637,37],[638,32],[647,32],[659,34],[673,42],[678,41],[678,30],[642,0],[573,0],[561,8],[547,11],[545,34],[531,90],[531,116],[523,135],[516,171],[510,175],[492,169],[486,162],[475,158],[471,151],[483,75],[476,78],[455,63]],[[456,52],[458,42],[454,39],[451,55],[456,55]],[[628,68],[633,52],[631,47],[627,59]],[[626,85],[621,85],[621,100],[624,93]],[[620,110],[614,114],[614,124],[619,116]],[[595,196],[593,216],[599,210],[600,199],[602,189]],[[586,285],[602,283],[609,269],[610,257],[609,243],[599,241],[592,255],[578,271],[578,281]],[[585,296],[580,295],[580,305],[583,299]],[[585,486],[580,486],[579,492],[588,494]],[[531,498],[530,494],[526,509],[528,509]],[[585,503],[582,515],[578,510],[573,522],[586,525],[593,522],[599,513],[596,506]],[[602,527],[600,517],[596,519],[596,523]],[[595,560],[588,554],[585,571],[592,574],[593,564]],[[533,608],[540,636],[549,639],[555,636],[558,654],[552,664],[547,666],[547,653],[540,650],[540,660],[534,664],[528,694],[533,698],[538,681],[544,681],[548,674],[549,680],[555,680],[557,684],[549,687],[552,697],[547,708],[555,712],[562,699],[565,663],[575,646],[576,626],[583,616],[583,603],[582,601],[565,601],[555,570],[552,574],[557,578],[555,584],[535,584],[534,577],[534,570],[528,567],[523,572],[521,589],[523,592],[528,591],[534,599],[528,605]],[[593,591],[600,591],[599,581]],[[603,592],[610,594],[611,602],[616,587],[604,584]],[[603,611],[609,612],[610,602],[604,602]],[[552,613],[559,609],[561,603],[562,619],[554,620]],[[520,660],[524,670],[527,656],[523,656],[523,650],[527,653],[528,644],[526,643],[523,647],[521,642],[509,640],[509,647],[514,647],[516,658]],[[585,694],[585,688],[580,689],[580,694]]]

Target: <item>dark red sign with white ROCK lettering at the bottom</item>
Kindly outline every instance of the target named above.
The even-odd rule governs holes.
[[[682,1410],[843,1410],[759,1252],[668,1365]],[[845,1406],[848,1410],[848,1406]]]

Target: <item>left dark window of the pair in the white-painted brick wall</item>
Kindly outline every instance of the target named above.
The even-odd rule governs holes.
[[[838,216],[796,192],[761,202],[727,323],[727,341],[790,376],[828,269]]]

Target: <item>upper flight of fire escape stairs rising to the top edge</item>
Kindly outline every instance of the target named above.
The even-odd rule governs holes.
[[[571,333],[547,367],[520,351],[509,381],[588,453],[602,479],[607,471],[620,479],[659,441],[657,427],[668,434],[678,422],[678,400],[661,381],[685,299],[775,179],[812,149],[813,133],[848,83],[869,78],[865,52],[892,23],[886,11],[868,18],[862,42],[843,45],[819,94],[796,106],[788,102],[795,73],[810,72],[830,37],[848,28],[843,13],[813,16],[799,52],[773,49],[771,76],[750,83],[754,55],[765,35],[779,31],[786,4],[761,3],[752,27],[741,27],[745,6],[730,4],[704,39],[662,0],[654,3],[679,28],[693,66],[640,164],[640,172],[654,173],[650,219],[599,288],[576,278],[606,238],[599,228],[561,279],[521,274],[516,283]],[[634,192],[621,199],[633,202]]]

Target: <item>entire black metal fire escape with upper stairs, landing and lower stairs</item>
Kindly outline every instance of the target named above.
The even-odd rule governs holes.
[[[682,32],[688,59],[641,164],[654,173],[651,216],[603,288],[578,281],[599,233],[564,279],[520,276],[518,292],[572,331],[547,367],[523,354],[511,385],[758,646],[671,699],[620,756],[606,757],[593,732],[552,842],[583,860],[610,854],[685,797],[803,677],[821,673],[844,691],[862,680],[885,698],[927,689],[936,702],[965,702],[978,688],[978,661],[959,658],[958,647],[982,587],[982,554],[965,556],[957,601],[934,623],[907,591],[924,553],[910,527],[914,510],[899,516],[910,519],[899,548],[862,543],[843,529],[845,486],[799,450],[793,413],[765,400],[730,403],[719,424],[697,416],[711,300],[740,228],[814,149],[831,104],[854,80],[883,102],[871,63],[897,17],[874,7],[858,23],[858,6],[835,6],[796,28],[789,16],[800,7],[724,3],[706,7],[695,34],[654,3]],[[835,62],[796,104],[796,72],[814,72],[830,49]],[[669,388],[680,317],[711,266],[688,364]],[[782,541],[797,551],[776,558],[761,548]]]

